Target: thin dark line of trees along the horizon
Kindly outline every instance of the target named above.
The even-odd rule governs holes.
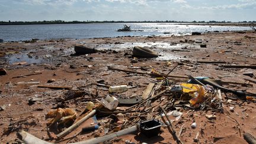
[[[256,21],[0,21],[0,25],[20,24],[88,24],[88,23],[256,23]]]

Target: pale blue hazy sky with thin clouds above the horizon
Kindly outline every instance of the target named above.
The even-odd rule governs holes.
[[[256,0],[1,0],[0,21],[256,21]]]

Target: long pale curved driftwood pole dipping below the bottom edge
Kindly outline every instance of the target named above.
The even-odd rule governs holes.
[[[76,143],[73,143],[73,144],[101,143],[101,142],[105,142],[107,140],[114,139],[115,137],[122,136],[122,135],[127,135],[129,133],[134,133],[134,132],[137,132],[137,125],[129,127],[127,129],[124,129],[124,130],[120,130],[119,132],[116,132],[116,133],[111,133],[110,135],[105,135],[103,137],[96,137],[94,139],[89,139],[89,140],[85,140],[85,141],[82,141],[82,142],[76,142]],[[21,140],[23,140],[23,142],[25,142],[27,144],[34,144],[34,143],[37,143],[37,144],[52,144],[52,143],[46,142],[44,140],[41,140],[41,139],[37,138],[36,136],[33,136],[33,135],[25,132],[24,130],[21,130],[20,132],[18,132],[17,135]]]

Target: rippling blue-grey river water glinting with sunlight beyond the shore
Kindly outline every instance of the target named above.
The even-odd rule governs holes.
[[[130,32],[118,32],[123,23],[104,24],[38,24],[38,25],[0,25],[0,39],[4,41],[20,41],[31,39],[85,39],[117,36],[175,36],[206,33],[207,31],[242,31],[250,27],[229,27],[209,25],[182,25],[173,23],[126,23]],[[142,30],[142,31],[140,31]],[[168,34],[164,34],[168,33]]]

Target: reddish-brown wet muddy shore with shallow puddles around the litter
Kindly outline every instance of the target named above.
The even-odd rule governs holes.
[[[75,53],[73,46],[76,44],[92,46],[100,51],[76,56],[73,55]],[[207,47],[200,47],[200,44],[206,44]],[[156,59],[135,59],[132,57],[133,46],[151,47],[161,56]],[[255,69],[221,67],[221,65],[256,65],[255,47],[256,33],[254,31],[206,33],[200,36],[180,37],[116,37],[0,43],[0,55],[4,55],[0,57],[0,68],[4,68],[8,73],[8,75],[0,76],[0,106],[5,105],[5,110],[0,111],[0,141],[15,142],[18,130],[24,129],[40,139],[55,142],[47,135],[45,115],[50,109],[57,107],[69,90],[37,88],[34,84],[22,84],[21,82],[40,82],[40,85],[65,85],[71,86],[72,90],[82,89],[86,92],[84,99],[70,98],[62,103],[65,107],[76,110],[78,114],[84,110],[88,100],[107,95],[107,88],[90,85],[98,79],[104,79],[107,85],[138,86],[123,92],[120,97],[142,95],[149,82],[159,82],[149,75],[112,71],[108,69],[108,66],[142,72],[151,72],[153,68],[159,73],[167,74],[178,62],[180,65],[171,72],[171,75],[209,76],[222,81],[251,84],[250,87],[236,84],[225,85],[225,87],[256,94],[256,84],[245,80],[255,81],[255,77],[249,78],[242,74],[252,72],[256,75]],[[225,61],[226,63],[200,63],[198,61]],[[35,72],[40,74],[14,78]],[[56,79],[56,81],[47,83],[49,79]],[[180,84],[185,81],[187,79],[175,78],[174,82]],[[193,143],[196,133],[201,129],[203,129],[203,134],[199,136],[199,140],[205,143],[246,143],[242,137],[243,133],[249,132],[256,136],[255,102],[228,101],[229,99],[224,94],[222,95],[225,101],[223,113],[181,108],[183,117],[172,124],[176,132],[179,132],[184,124],[186,129],[180,137],[184,143]],[[30,98],[34,98],[34,104],[28,104]],[[162,103],[168,103],[167,100],[168,98],[165,98]],[[235,107],[234,111],[229,110],[229,107]],[[121,106],[122,108],[125,107]],[[216,120],[208,120],[205,117],[206,114],[215,114]],[[7,130],[10,124],[20,120],[25,123],[17,124],[14,126],[15,129]],[[98,120],[100,121],[101,118]],[[190,127],[193,121],[197,123],[196,129]],[[90,126],[91,123],[92,120],[89,119],[66,137],[71,137],[82,127]],[[125,140],[135,143],[175,143],[167,127],[161,129],[162,133],[159,137],[149,139],[143,135],[126,135],[120,136],[121,139],[114,143],[124,143]],[[55,134],[51,132],[50,136],[55,137],[56,134],[57,132]],[[100,135],[103,135],[103,130],[100,130]],[[94,136],[95,133],[79,135],[70,142],[79,142]]]

